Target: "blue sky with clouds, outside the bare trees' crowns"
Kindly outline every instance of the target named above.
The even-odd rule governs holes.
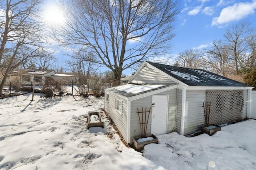
[[[46,8],[54,6],[58,0],[47,0]],[[179,52],[186,49],[204,49],[212,41],[223,39],[226,29],[241,20],[249,21],[256,28],[256,0],[178,0],[181,12],[176,17],[171,54],[162,56],[175,60]],[[52,13],[51,13],[52,12]],[[48,11],[49,21],[60,21],[56,6]],[[52,21],[51,21],[52,20]],[[55,57],[58,64],[65,66],[64,49],[58,49]],[[101,67],[102,72],[106,68]],[[134,70],[124,70],[123,74],[130,75]]]

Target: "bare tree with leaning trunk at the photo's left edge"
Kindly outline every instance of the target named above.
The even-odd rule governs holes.
[[[10,58],[2,69],[4,77],[0,83],[0,96],[9,72],[28,58],[36,56],[41,47],[42,25],[37,18],[39,4],[40,0],[6,0],[6,3],[0,4],[5,12],[0,17],[0,67],[4,66],[3,58]]]

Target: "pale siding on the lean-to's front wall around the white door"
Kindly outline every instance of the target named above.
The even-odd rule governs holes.
[[[154,95],[169,95],[167,133],[170,133],[172,132],[172,129],[175,127],[176,89],[168,90],[166,92],[161,92]],[[145,107],[147,107],[147,110],[148,110],[149,107],[151,106],[152,106],[152,95],[131,101],[131,143],[133,141],[132,140],[133,138],[137,139],[141,135],[137,107],[139,108],[139,110],[141,110],[141,107],[143,107],[144,109]],[[147,134],[149,135],[150,133],[151,133],[151,115],[149,117],[148,128],[147,128]]]

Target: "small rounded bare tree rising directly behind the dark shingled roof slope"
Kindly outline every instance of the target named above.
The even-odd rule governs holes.
[[[199,69],[202,67],[202,62],[200,61],[198,53],[198,51],[194,51],[193,49],[182,51],[179,53],[178,59],[175,60],[174,65]]]

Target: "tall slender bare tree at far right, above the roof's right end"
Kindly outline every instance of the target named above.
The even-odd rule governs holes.
[[[243,55],[248,51],[247,39],[252,34],[252,29],[249,22],[241,21],[231,28],[226,29],[224,37],[228,43],[228,49],[230,49],[230,57],[234,61],[236,74],[239,74],[239,70],[243,66]]]

